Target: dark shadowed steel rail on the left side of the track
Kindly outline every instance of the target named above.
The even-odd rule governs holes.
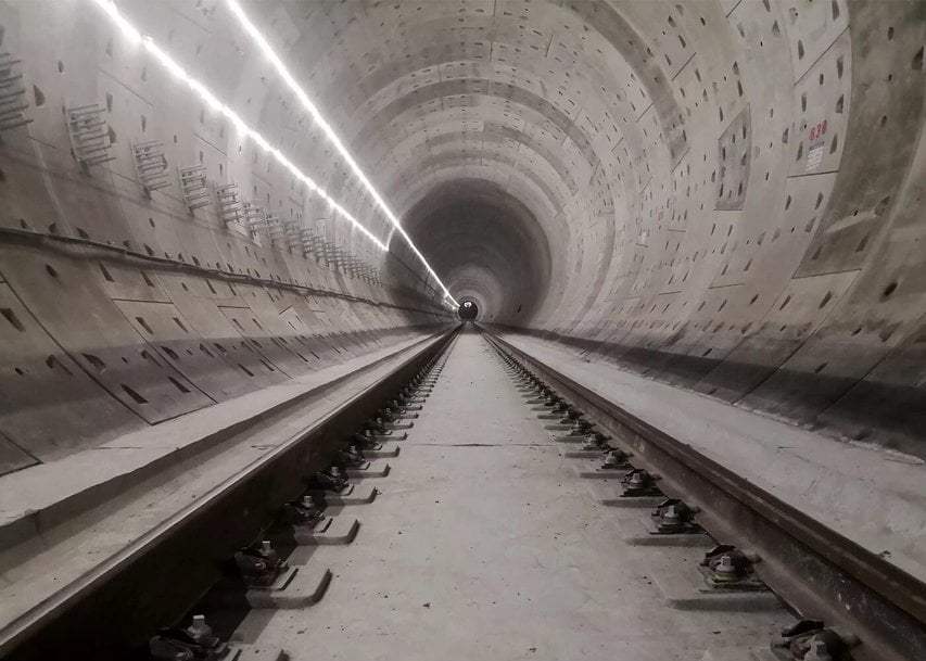
[[[122,659],[127,645],[143,643],[191,607],[218,579],[221,562],[253,542],[272,513],[305,490],[307,478],[328,465],[343,440],[442,352],[457,330],[408,347],[388,373],[326,410],[274,452],[102,559],[54,599],[4,624],[0,658],[45,661],[90,650],[88,657],[97,661]],[[367,371],[361,368],[359,373]],[[321,396],[330,392],[326,386]],[[259,433],[259,422],[252,427]]]

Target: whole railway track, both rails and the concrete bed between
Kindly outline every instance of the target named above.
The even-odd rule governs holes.
[[[344,382],[238,430],[287,440],[8,623],[0,653],[926,658],[915,579],[497,336]]]

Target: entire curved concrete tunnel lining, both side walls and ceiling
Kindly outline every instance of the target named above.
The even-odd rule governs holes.
[[[224,1],[118,4],[389,236]],[[730,403],[923,452],[924,7],[347,0],[246,10],[483,320]],[[226,308],[253,313],[280,360],[306,369],[297,347],[270,338],[437,322],[433,282],[401,240],[386,257],[331,217],[87,0],[0,0],[0,50],[23,60],[34,119],[2,134],[0,225],[86,234],[157,258],[122,255],[106,267],[110,281],[99,262],[115,259],[113,251],[31,234],[3,243],[11,303],[2,307],[18,310],[27,330],[0,319],[0,332],[29,349],[7,342],[11,356],[34,356],[45,370],[26,370],[31,387],[72,383],[62,401],[77,406],[84,386],[42,365],[59,356],[75,379],[96,381],[80,410],[102,411],[93,417],[113,434],[138,423],[137,406],[123,380],[103,380],[81,356],[113,351],[101,356],[111,365],[124,347],[174,340],[175,313],[201,338],[246,336],[254,329],[237,329]],[[83,174],[62,106],[87,103],[107,109],[116,160]],[[164,143],[175,177],[150,199],[130,155],[142,139]],[[267,237],[254,241],[227,228],[215,205],[190,215],[173,168],[199,163],[211,180],[238,183],[243,198],[379,267],[384,284],[335,274]],[[277,292],[267,280],[292,287]],[[299,317],[297,330],[287,315]],[[157,369],[178,369],[157,351],[149,351]],[[238,359],[224,363],[241,380]],[[18,374],[5,376],[12,358],[3,365],[4,382],[16,383]],[[163,403],[156,419],[179,415],[227,396],[226,377],[196,381],[206,372],[174,374],[183,393],[155,370],[143,379],[151,397],[137,392]],[[36,402],[17,393],[12,411]],[[0,432],[28,446],[7,421],[15,418],[0,418]]]

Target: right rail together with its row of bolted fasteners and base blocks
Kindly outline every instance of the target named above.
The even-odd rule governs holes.
[[[533,356],[486,334],[575,479],[595,484],[624,544],[651,549],[673,609],[783,615],[763,643],[703,661],[926,658],[923,586]],[[784,616],[787,615],[787,616]]]

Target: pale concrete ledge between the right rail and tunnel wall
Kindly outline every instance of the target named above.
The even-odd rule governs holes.
[[[926,579],[926,480],[921,460],[822,436],[607,363],[587,363],[557,345],[523,335],[504,339],[910,574]]]

